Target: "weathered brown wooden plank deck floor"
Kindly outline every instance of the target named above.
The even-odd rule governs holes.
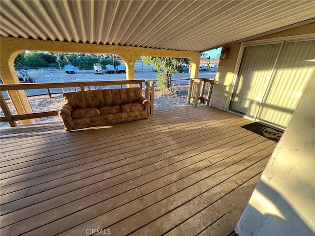
[[[80,131],[1,129],[1,236],[228,236],[275,148],[247,123],[180,106]]]

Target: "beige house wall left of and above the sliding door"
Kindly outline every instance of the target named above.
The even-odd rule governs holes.
[[[297,27],[294,29],[288,29],[282,32],[273,33],[260,38],[252,39],[250,41],[289,37],[296,35],[304,35],[309,33],[315,33],[315,23],[305,26]],[[241,49],[241,43],[227,46],[230,48],[229,53],[224,60],[219,61],[218,73],[216,76],[216,85],[213,88],[213,96],[211,100],[211,106],[220,110],[227,110],[228,95],[232,86],[234,76],[236,76],[235,69],[237,58]]]

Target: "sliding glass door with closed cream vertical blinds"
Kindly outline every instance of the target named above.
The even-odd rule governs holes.
[[[285,128],[315,71],[315,41],[247,46],[229,110]]]

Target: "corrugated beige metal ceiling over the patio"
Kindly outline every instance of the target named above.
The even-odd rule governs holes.
[[[313,0],[1,0],[4,37],[206,51],[315,17]]]

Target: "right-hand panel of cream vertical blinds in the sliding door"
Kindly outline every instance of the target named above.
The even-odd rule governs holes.
[[[286,127],[315,70],[315,41],[284,43],[259,120]]]

